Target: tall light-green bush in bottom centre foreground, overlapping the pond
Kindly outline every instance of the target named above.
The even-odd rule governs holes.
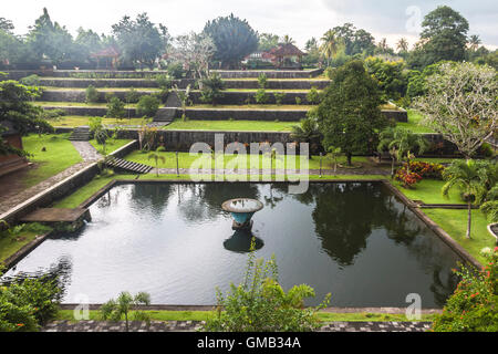
[[[292,287],[287,293],[278,283],[274,257],[256,260],[253,240],[243,283],[230,285],[224,296],[217,291],[217,314],[208,317],[208,332],[304,332],[320,326],[317,312],[325,308],[330,294],[318,308],[303,308],[305,298],[314,296],[309,285]],[[224,309],[225,311],[221,311]]]

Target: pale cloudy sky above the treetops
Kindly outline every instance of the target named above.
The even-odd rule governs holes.
[[[496,0],[1,0],[0,17],[13,21],[23,34],[46,7],[52,20],[71,33],[79,27],[110,33],[124,14],[147,12],[166,24],[173,35],[200,31],[207,20],[230,12],[245,18],[261,32],[289,34],[303,46],[311,37],[344,22],[370,31],[378,41],[394,43],[404,37],[413,44],[423,17],[439,4],[459,11],[470,23],[468,34],[479,34],[484,44],[498,48]]]

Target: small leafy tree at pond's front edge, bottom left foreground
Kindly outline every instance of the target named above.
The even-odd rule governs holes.
[[[128,317],[134,306],[151,304],[151,295],[146,292],[139,292],[133,296],[129,292],[120,293],[116,300],[112,299],[101,306],[101,314],[104,320],[121,321],[124,316],[126,332],[129,331]],[[133,320],[149,322],[151,317],[145,311],[134,311]]]

